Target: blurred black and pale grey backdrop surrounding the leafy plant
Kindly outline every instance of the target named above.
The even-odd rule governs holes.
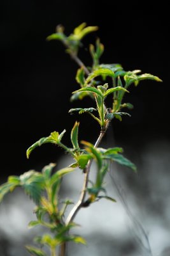
[[[29,160],[25,151],[52,131],[69,132],[80,120],[80,140],[95,142],[99,127],[89,116],[70,116],[70,108],[93,106],[89,99],[69,102],[78,88],[77,66],[60,42],[46,42],[46,36],[62,24],[69,35],[81,22],[99,26],[83,40],[80,58],[92,60],[89,44],[101,38],[105,46],[101,63],[121,63],[125,70],[141,69],[159,76],[164,83],[143,81],[125,101],[134,109],[131,118],[113,122],[102,147],[117,145],[138,166],[138,175],[113,166],[108,175],[110,195],[117,204],[101,201],[83,209],[77,230],[87,246],[70,244],[70,255],[169,256],[170,174],[169,174],[169,16],[167,6],[120,1],[1,0],[1,180],[30,169],[41,170],[51,162],[59,167],[70,159],[52,145],[34,150]],[[82,174],[76,173],[81,186]],[[79,182],[80,180],[80,182]],[[78,196],[73,181],[64,180],[62,196]],[[67,189],[66,189],[67,188]],[[24,244],[39,230],[27,230],[33,219],[29,198],[20,190],[0,205],[0,255],[28,255]],[[82,221],[83,220],[83,221]],[[41,230],[40,230],[41,232]],[[150,243],[148,243],[148,240]],[[26,241],[26,242],[25,242]],[[151,248],[152,254],[150,254]]]

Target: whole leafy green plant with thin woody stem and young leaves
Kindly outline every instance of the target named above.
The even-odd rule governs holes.
[[[76,226],[74,217],[82,207],[89,207],[101,198],[116,202],[114,198],[107,194],[107,188],[104,187],[104,177],[110,171],[110,161],[128,166],[133,172],[136,172],[136,166],[122,155],[121,147],[100,148],[99,144],[103,139],[108,126],[117,118],[122,120],[124,116],[130,116],[122,109],[132,109],[129,102],[123,102],[125,93],[129,93],[132,84],[138,86],[139,82],[145,79],[151,79],[160,82],[157,76],[151,74],[140,74],[141,70],[125,71],[120,64],[103,64],[99,62],[104,52],[104,45],[100,40],[96,40],[96,45],[90,44],[89,52],[92,57],[92,67],[86,67],[78,58],[78,51],[82,45],[81,40],[87,34],[96,31],[97,26],[87,27],[85,23],[74,29],[73,33],[66,36],[63,26],[57,26],[56,32],[47,37],[47,40],[59,40],[66,47],[66,52],[76,61],[79,68],[76,73],[76,81],[80,89],[73,92],[71,100],[82,100],[84,97],[90,98],[89,108],[70,109],[69,113],[89,114],[99,124],[100,133],[95,145],[89,141],[78,141],[79,122],[75,122],[71,130],[72,148],[62,143],[62,137],[66,130],[62,132],[53,131],[49,136],[36,141],[27,149],[27,158],[32,150],[45,143],[58,145],[67,154],[73,157],[73,164],[57,170],[55,164],[45,166],[41,172],[31,170],[20,176],[10,176],[8,181],[0,186],[0,200],[4,195],[12,192],[18,186],[22,187],[27,195],[34,201],[36,208],[36,221],[31,221],[29,227],[41,225],[46,228],[47,233],[43,236],[35,237],[35,246],[26,246],[31,255],[36,256],[66,256],[67,241],[85,244],[85,239],[80,236],[70,234],[71,228]],[[106,79],[110,77],[110,84]],[[106,106],[107,97],[111,97],[111,106]],[[96,103],[94,103],[96,102]],[[88,117],[86,117],[88,118]],[[92,161],[96,162],[96,179],[89,180],[89,173]],[[62,177],[74,172],[75,168],[80,168],[84,173],[80,198],[73,208],[65,216],[67,205],[73,204],[71,200],[60,202],[60,185]],[[89,182],[90,181],[90,182]],[[62,207],[60,206],[62,205]],[[48,247],[49,250],[44,250]]]

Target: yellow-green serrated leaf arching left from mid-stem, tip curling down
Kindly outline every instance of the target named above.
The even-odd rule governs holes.
[[[54,132],[51,132],[50,136],[43,137],[40,140],[36,141],[36,143],[34,143],[31,147],[29,147],[27,149],[27,158],[29,158],[29,156],[30,156],[32,150],[34,150],[34,148],[40,147],[41,145],[43,145],[45,143],[59,144],[60,140],[65,132],[66,132],[66,130],[62,131],[61,134],[59,134],[59,132],[54,131]]]

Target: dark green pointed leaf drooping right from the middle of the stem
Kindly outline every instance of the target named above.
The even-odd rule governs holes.
[[[115,161],[115,162],[117,162],[119,164],[127,166],[127,167],[131,168],[134,172],[137,171],[136,165],[133,164],[130,160],[128,160],[124,156],[122,156],[121,154],[104,155],[103,158],[104,159],[110,159],[110,160]]]

